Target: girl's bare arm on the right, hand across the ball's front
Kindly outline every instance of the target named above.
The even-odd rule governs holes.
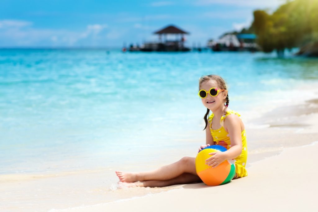
[[[242,127],[244,127],[241,119],[235,115],[230,114],[224,121],[224,129],[229,133],[231,140],[231,148],[225,152],[212,152],[211,156],[206,160],[206,164],[212,167],[217,167],[220,163],[228,159],[234,159],[242,153]]]

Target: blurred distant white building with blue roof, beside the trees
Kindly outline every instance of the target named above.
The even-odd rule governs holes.
[[[225,34],[209,46],[213,51],[259,51],[254,34]]]

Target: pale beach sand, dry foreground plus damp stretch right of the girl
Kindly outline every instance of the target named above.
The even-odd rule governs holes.
[[[304,107],[308,108],[303,110]],[[290,113],[297,111],[297,113]],[[305,113],[301,113],[305,111]],[[250,147],[248,176],[222,186],[204,183],[175,185],[159,194],[53,211],[315,211],[318,174],[317,99],[277,108],[265,116],[265,129],[249,129],[249,139],[270,142],[271,148]],[[276,118],[274,118],[276,117]],[[288,117],[288,118],[287,118]],[[257,120],[255,120],[257,122]],[[279,123],[279,124],[274,124]],[[297,124],[295,124],[297,123]],[[299,144],[305,144],[299,146]],[[289,146],[289,147],[287,147]],[[136,192],[141,188],[123,188]],[[150,188],[156,189],[156,188]]]

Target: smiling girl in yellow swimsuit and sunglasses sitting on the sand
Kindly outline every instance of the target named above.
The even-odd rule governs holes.
[[[247,159],[245,127],[239,113],[229,110],[229,95],[225,81],[217,75],[202,76],[199,79],[199,93],[202,104],[207,108],[204,115],[206,145],[221,145],[225,152],[210,153],[206,164],[217,167],[225,160],[235,160],[235,176],[233,179],[247,176],[245,169]],[[208,117],[208,114],[212,114]],[[209,127],[208,127],[209,125]],[[202,182],[196,173],[195,158],[183,157],[181,160],[148,172],[116,171],[124,186],[133,187],[165,187],[176,184]]]

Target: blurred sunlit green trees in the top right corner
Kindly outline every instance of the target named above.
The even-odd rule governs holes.
[[[255,10],[253,15],[251,28],[265,52],[318,41],[318,0],[287,1],[271,15],[265,10]]]

